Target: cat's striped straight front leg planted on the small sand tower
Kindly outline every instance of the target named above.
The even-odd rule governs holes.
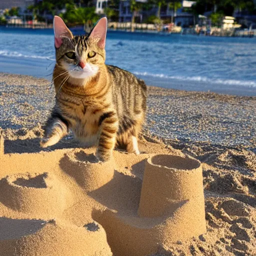
[[[112,155],[118,129],[118,116],[114,111],[103,113],[98,121],[99,138],[96,157],[100,161],[107,161]]]

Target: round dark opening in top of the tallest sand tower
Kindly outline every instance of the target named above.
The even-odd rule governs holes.
[[[152,164],[179,170],[192,170],[200,166],[200,162],[188,157],[177,155],[158,154],[151,158]]]

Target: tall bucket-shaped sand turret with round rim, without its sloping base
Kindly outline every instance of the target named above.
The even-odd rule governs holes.
[[[193,201],[194,206],[204,205],[200,162],[176,155],[149,157],[145,162],[138,215],[163,216],[171,209],[171,204],[188,201]],[[194,206],[191,205],[191,211]],[[204,219],[204,208],[195,213],[199,222]]]

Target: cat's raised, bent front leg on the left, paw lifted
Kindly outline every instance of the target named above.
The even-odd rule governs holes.
[[[47,147],[56,144],[62,137],[68,133],[68,124],[60,114],[53,112],[48,119],[44,136],[40,141],[41,147]]]

